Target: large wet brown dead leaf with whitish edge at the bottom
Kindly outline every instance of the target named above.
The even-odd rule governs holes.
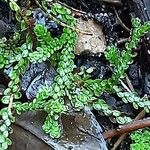
[[[25,150],[27,145],[37,144],[39,139],[47,144],[47,147],[55,150],[107,150],[101,134],[102,129],[89,108],[85,108],[83,113],[62,115],[63,134],[59,139],[51,139],[43,132],[42,124],[45,117],[44,112],[26,112],[18,117],[15,126],[24,129],[22,132],[24,132],[23,134],[28,133],[28,138],[21,140],[23,143],[20,143],[22,134],[20,134],[20,130],[14,130],[15,133],[11,136],[12,150]],[[16,136],[17,134],[20,137]],[[33,135],[37,141],[31,139]],[[34,147],[30,147],[28,150],[33,150]]]

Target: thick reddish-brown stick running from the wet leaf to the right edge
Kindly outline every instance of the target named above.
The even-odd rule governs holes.
[[[133,121],[132,123],[120,126],[119,128],[104,132],[103,137],[104,137],[104,139],[109,139],[114,136],[119,136],[123,133],[135,131],[137,129],[142,129],[145,127],[150,127],[150,118]]]

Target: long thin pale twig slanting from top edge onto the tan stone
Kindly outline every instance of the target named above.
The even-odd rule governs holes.
[[[47,12],[47,10],[38,2],[38,0],[35,0],[36,4],[41,8],[43,9],[45,12]],[[62,21],[60,21],[59,19],[57,19],[56,17],[54,17],[52,14],[48,13],[48,17],[50,19],[52,19],[53,21],[55,21],[56,23],[60,24],[61,26],[63,27],[67,27],[73,31],[76,31],[78,33],[82,33],[82,34],[87,34],[87,35],[93,35],[92,33],[90,33],[89,31],[81,31],[80,29],[78,28],[74,28],[74,27],[71,27],[65,23],[63,23]]]

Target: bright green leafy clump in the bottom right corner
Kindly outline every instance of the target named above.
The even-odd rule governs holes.
[[[150,147],[150,130],[138,130],[131,134],[132,144],[130,150],[149,150]]]

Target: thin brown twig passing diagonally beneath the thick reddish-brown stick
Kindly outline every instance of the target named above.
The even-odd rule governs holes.
[[[145,111],[142,110],[134,119],[134,121],[139,120],[141,118],[143,118],[145,116]],[[119,139],[115,142],[113,148],[111,150],[116,150],[118,148],[118,146],[121,144],[121,142],[126,138],[126,136],[128,135],[128,133],[124,133],[122,134]]]

